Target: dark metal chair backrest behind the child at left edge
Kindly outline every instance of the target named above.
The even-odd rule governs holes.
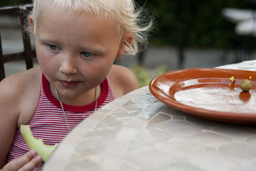
[[[26,69],[33,68],[33,57],[36,57],[35,50],[31,48],[30,36],[25,31],[27,14],[33,7],[32,4],[20,5],[20,6],[6,6],[0,8],[0,15],[12,15],[19,16],[20,29],[22,33],[22,42],[24,52],[17,52],[13,54],[3,54],[1,33],[0,33],[0,81],[5,77],[4,63],[19,61],[24,59],[26,61]]]

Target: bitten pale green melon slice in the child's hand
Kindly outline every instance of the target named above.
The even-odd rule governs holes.
[[[49,158],[52,151],[54,151],[54,149],[58,145],[46,145],[44,144],[42,139],[34,138],[29,125],[21,125],[20,131],[23,137],[25,138],[29,149],[35,150],[40,156],[42,156],[44,161],[46,161]]]

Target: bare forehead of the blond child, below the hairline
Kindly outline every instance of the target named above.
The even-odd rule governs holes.
[[[36,37],[41,40],[52,40],[71,43],[72,45],[102,45],[106,42],[118,43],[120,34],[116,33],[115,22],[110,17],[74,13],[73,11],[52,10],[47,8],[38,17]],[[55,43],[55,42],[53,42]]]

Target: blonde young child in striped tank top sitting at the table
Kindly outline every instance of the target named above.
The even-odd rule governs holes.
[[[113,61],[136,54],[150,24],[138,24],[132,0],[35,0],[29,17],[39,66],[0,83],[0,168],[33,170],[20,124],[53,145],[109,101],[139,87]]]

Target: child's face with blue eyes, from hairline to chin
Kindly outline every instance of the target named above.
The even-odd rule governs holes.
[[[124,54],[121,44],[109,17],[44,8],[36,23],[38,63],[51,91],[56,87],[66,100],[93,94],[93,87],[106,78],[115,58]]]

